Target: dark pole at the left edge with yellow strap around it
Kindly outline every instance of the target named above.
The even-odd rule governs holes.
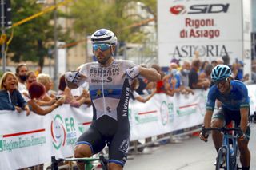
[[[2,35],[6,34],[5,28],[5,7],[4,7],[4,0],[1,0],[1,33]],[[3,73],[6,72],[6,42],[2,42],[1,53],[2,53],[2,71]]]

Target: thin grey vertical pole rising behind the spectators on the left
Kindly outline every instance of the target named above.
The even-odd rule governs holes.
[[[56,0],[54,0],[56,6]],[[54,9],[54,89],[58,87],[58,30],[57,30],[57,7]]]

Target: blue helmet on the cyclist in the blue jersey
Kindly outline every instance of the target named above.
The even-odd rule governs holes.
[[[231,70],[230,67],[227,65],[217,65],[214,67],[214,69],[211,71],[211,80],[216,82],[216,81],[221,81],[225,79],[226,77],[231,76]]]

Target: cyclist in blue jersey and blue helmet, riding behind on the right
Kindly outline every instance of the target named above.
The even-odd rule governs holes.
[[[250,128],[248,125],[249,97],[246,85],[242,81],[231,80],[231,70],[227,65],[217,65],[211,72],[214,85],[211,86],[204,117],[205,128],[221,128],[228,125],[230,121],[235,121],[240,125],[243,136],[238,139],[238,148],[241,152],[240,161],[242,169],[250,169],[250,151],[248,142]],[[214,113],[215,100],[221,101],[222,107]],[[214,113],[214,114],[213,114]],[[206,141],[208,134],[200,133],[200,139]],[[222,146],[222,134],[217,131],[212,132],[214,146],[218,149]]]

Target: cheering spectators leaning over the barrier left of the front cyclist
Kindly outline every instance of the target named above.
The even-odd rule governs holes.
[[[64,75],[60,77],[58,91],[53,90],[50,75],[30,71],[26,64],[16,67],[16,73],[7,71],[0,81],[0,110],[16,110],[20,113],[26,110],[38,115],[46,115],[62,104],[80,107],[82,104],[90,105],[87,89],[81,89],[79,95],[72,94],[66,87]],[[79,89],[78,89],[79,90]],[[45,106],[45,107],[42,107]]]

